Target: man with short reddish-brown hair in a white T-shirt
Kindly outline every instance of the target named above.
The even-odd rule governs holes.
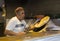
[[[24,32],[25,27],[27,27],[26,22],[24,20],[25,13],[22,7],[18,7],[15,10],[16,16],[11,18],[9,23],[6,26],[5,34],[11,36],[19,36],[26,34]]]

